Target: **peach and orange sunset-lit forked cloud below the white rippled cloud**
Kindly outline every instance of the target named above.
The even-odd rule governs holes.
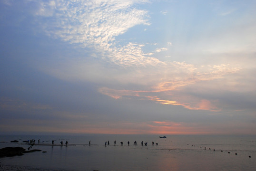
[[[180,105],[189,110],[208,110],[217,112],[221,110],[220,104],[216,100],[191,97],[188,95],[178,96],[175,92],[180,92],[183,87],[201,84],[209,80],[220,79],[227,74],[236,73],[239,67],[229,65],[214,65],[196,67],[185,62],[169,62],[159,68],[161,74],[151,77],[150,82],[154,83],[141,90],[117,90],[102,87],[99,92],[115,99],[123,97],[136,97],[143,100],[154,101],[159,104]],[[162,73],[166,73],[162,75]],[[155,79],[155,80],[154,80]],[[146,91],[145,91],[146,90]],[[162,95],[162,93],[165,93]]]

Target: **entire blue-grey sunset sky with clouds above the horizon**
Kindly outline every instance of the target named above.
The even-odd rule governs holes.
[[[256,135],[255,0],[0,0],[0,133]]]

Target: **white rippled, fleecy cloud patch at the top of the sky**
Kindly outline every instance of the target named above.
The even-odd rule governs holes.
[[[133,6],[145,2],[147,0],[40,1],[35,14],[51,17],[41,26],[51,37],[93,47],[104,53],[105,60],[121,66],[144,65],[144,61],[156,60],[145,57],[141,45],[136,43],[117,46],[115,37],[136,25],[150,24],[148,11]]]

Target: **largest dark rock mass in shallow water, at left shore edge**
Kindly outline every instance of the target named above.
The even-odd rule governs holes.
[[[24,153],[28,152],[40,152],[41,150],[30,150],[26,151],[22,147],[5,147],[0,149],[0,157],[13,157],[13,156],[20,156],[23,155]]]

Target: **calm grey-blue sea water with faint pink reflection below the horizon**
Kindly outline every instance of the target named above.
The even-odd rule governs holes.
[[[41,141],[32,150],[46,153],[4,157],[0,163],[64,171],[256,171],[256,136],[0,135],[0,148],[27,149],[29,145],[22,141],[30,139],[36,144],[38,139]],[[52,140],[54,146],[49,145]],[[69,145],[59,146],[60,141]],[[148,146],[142,146],[141,141],[148,142]]]

